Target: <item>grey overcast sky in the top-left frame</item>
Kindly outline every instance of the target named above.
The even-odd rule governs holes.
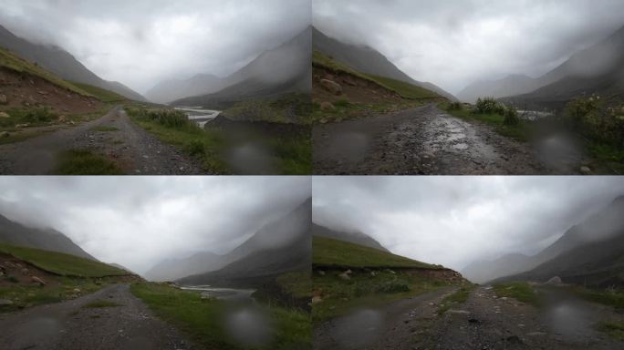
[[[309,0],[2,0],[0,25],[68,50],[145,93],[161,80],[224,77],[310,24]]]

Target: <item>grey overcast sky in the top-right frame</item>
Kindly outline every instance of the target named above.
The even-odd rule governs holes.
[[[537,77],[624,26],[622,0],[312,0],[328,36],[376,48],[416,80],[457,93]]]

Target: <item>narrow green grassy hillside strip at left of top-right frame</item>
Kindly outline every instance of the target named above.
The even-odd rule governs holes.
[[[401,98],[407,99],[428,99],[440,98],[440,95],[426,88],[417,87],[404,81],[392,79],[390,77],[377,77],[358,72],[350,67],[328,57],[320,51],[315,50],[312,54],[312,65],[323,67],[337,73],[346,73],[354,77],[359,77],[377,84],[381,88],[385,88],[400,95]]]

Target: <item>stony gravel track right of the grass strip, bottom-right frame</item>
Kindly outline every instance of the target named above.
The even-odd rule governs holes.
[[[624,349],[624,343],[596,329],[598,322],[621,315],[564,290],[539,292],[544,306],[537,308],[479,287],[465,304],[423,324],[427,330],[411,349]]]

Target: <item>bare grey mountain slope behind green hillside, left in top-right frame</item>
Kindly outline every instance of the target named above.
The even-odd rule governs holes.
[[[378,77],[391,77],[421,88],[426,88],[452,101],[457,100],[451,93],[444,91],[442,88],[432,83],[414,80],[390,62],[387,57],[383,56],[372,47],[342,43],[337,39],[326,36],[314,27],[312,28],[312,46],[315,50],[359,72]]]

